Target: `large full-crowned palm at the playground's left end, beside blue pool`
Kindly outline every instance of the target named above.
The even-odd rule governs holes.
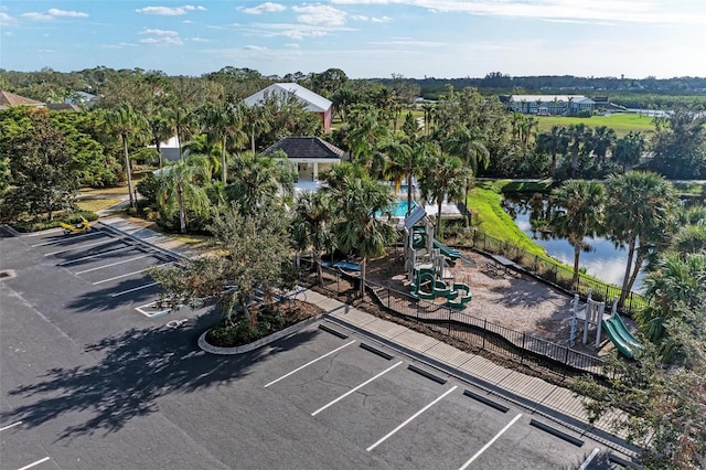
[[[344,184],[330,191],[339,214],[333,227],[336,246],[345,254],[355,254],[363,258],[363,296],[367,258],[384,255],[385,247],[397,236],[392,225],[375,217],[376,213],[389,210],[394,196],[385,183],[370,178],[344,178]]]

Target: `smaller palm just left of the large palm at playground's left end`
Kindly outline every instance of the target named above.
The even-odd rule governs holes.
[[[299,250],[311,247],[320,285],[323,284],[321,255],[335,245],[332,232],[333,214],[331,195],[327,191],[304,191],[298,195],[295,203],[292,239]]]

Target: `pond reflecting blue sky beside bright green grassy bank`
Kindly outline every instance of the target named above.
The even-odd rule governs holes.
[[[544,247],[549,256],[568,266],[574,266],[574,247],[566,238],[557,238],[543,232],[533,231],[531,221],[541,218],[533,217],[533,206],[534,211],[538,210],[537,204],[531,204],[531,195],[506,196],[503,202],[503,209],[515,220],[520,229],[532,237],[537,245]],[[541,202],[539,207],[546,207],[546,200]],[[587,237],[585,242],[591,249],[590,252],[581,252],[579,265],[598,279],[617,286],[622,285],[628,249],[616,248],[612,242],[603,237]],[[632,288],[633,291],[642,291],[642,278],[641,271]]]

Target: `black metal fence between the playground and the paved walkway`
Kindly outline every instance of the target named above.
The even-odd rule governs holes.
[[[314,271],[306,278],[318,285]],[[341,270],[322,268],[321,287],[338,297],[360,299],[360,278]],[[501,354],[516,363],[536,366],[561,377],[587,372],[603,375],[599,357],[575,351],[527,333],[511,330],[462,311],[428,300],[416,299],[387,286],[365,282],[363,302],[373,303],[396,317],[413,320],[425,328],[453,338],[472,348]]]

